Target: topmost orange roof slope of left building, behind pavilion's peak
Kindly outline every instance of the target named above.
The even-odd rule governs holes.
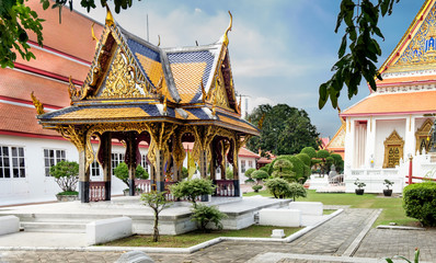
[[[50,5],[54,2],[50,2]],[[91,61],[95,54],[95,42],[91,37],[91,25],[93,20],[85,18],[77,11],[70,12],[64,8],[61,23],[59,24],[59,10],[48,8],[43,10],[39,0],[30,0],[26,2],[34,10],[43,22],[44,46],[56,48],[59,52],[69,54],[80,59]],[[104,18],[101,18],[103,21]],[[95,24],[94,33],[100,38],[103,32],[103,25]],[[35,34],[30,33],[31,41],[36,42]]]

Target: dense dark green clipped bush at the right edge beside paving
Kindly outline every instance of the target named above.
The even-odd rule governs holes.
[[[405,215],[418,219],[424,226],[436,226],[436,183],[411,184],[403,190]]]

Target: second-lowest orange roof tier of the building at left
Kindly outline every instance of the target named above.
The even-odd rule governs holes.
[[[43,103],[59,107],[69,106],[68,85],[59,81],[23,73],[13,69],[0,69],[0,95],[32,101],[31,92]]]

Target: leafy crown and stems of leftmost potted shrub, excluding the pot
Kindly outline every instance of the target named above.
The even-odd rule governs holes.
[[[62,192],[74,192],[79,180],[79,163],[74,161],[60,161],[50,167],[50,175]]]

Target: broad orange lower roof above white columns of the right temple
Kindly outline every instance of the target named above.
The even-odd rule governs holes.
[[[374,93],[341,116],[436,112],[436,91]]]

